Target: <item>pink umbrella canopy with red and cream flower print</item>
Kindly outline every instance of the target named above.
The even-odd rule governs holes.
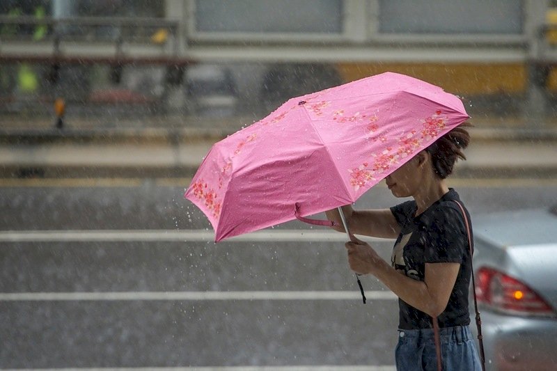
[[[461,100],[386,72],[295,97],[214,144],[185,197],[215,241],[354,203],[469,118]]]

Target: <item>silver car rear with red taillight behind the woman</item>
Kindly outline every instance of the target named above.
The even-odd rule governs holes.
[[[557,370],[557,207],[473,226],[486,369]]]

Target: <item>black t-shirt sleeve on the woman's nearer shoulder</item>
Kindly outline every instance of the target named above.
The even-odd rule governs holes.
[[[424,262],[464,262],[468,244],[462,216],[453,207],[437,205],[423,227]]]

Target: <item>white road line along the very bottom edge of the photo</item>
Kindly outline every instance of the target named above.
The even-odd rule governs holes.
[[[136,368],[18,368],[6,371],[394,371],[395,366],[316,365],[316,366],[231,366],[231,367],[136,367]]]

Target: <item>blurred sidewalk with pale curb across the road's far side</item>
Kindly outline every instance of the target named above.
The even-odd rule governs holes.
[[[0,177],[191,177],[213,143],[257,118],[0,118]],[[6,123],[6,124],[5,124]],[[557,177],[557,123],[475,120],[460,177]]]

